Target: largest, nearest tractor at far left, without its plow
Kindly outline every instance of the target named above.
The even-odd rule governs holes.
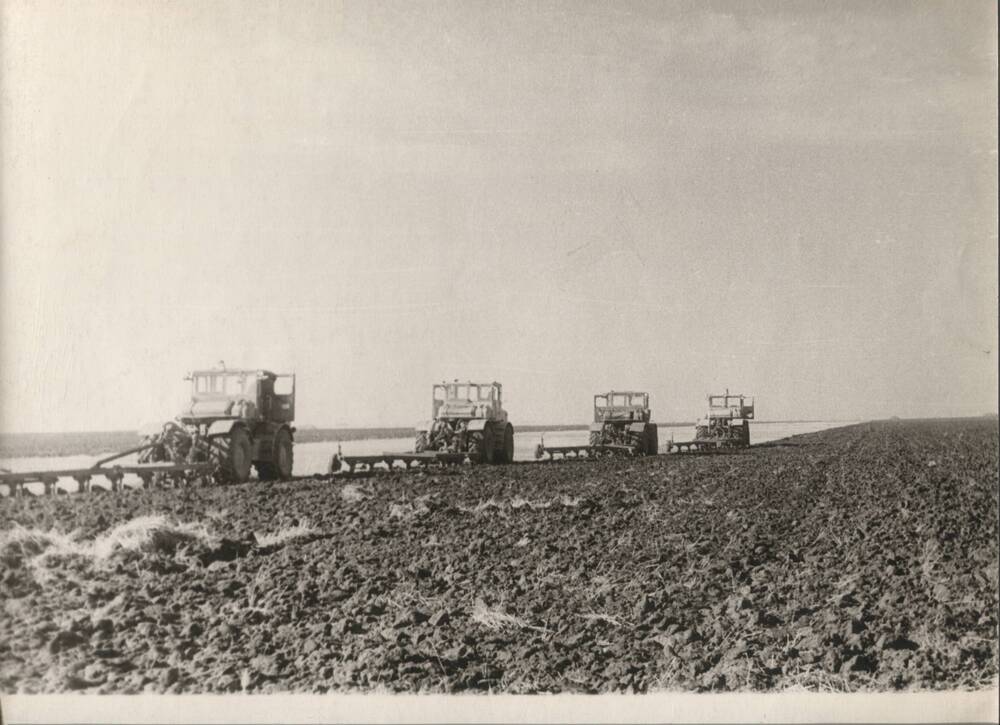
[[[214,463],[221,482],[242,483],[251,465],[262,481],[292,475],[295,375],[267,370],[197,370],[191,401],[174,420],[147,431],[140,463]]]

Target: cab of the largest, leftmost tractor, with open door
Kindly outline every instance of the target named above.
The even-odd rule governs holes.
[[[196,370],[185,422],[225,418],[290,423],[295,419],[295,376],[268,370]]]

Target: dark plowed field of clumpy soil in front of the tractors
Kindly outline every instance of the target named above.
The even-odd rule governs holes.
[[[0,501],[0,691],[951,689],[996,421],[732,455]]]

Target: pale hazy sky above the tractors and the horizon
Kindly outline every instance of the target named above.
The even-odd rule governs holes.
[[[992,2],[0,5],[0,430],[997,410]]]

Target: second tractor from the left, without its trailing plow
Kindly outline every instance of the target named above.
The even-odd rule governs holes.
[[[414,451],[466,453],[473,463],[514,460],[514,427],[503,409],[500,383],[433,386],[431,420],[417,426]]]

